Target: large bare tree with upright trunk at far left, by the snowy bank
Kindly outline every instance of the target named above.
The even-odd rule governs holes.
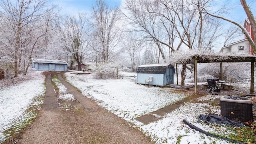
[[[1,0],[0,8],[4,10],[5,22],[4,24],[10,25],[14,35],[12,54],[14,56],[14,76],[18,76],[18,61],[20,52],[20,40],[24,32],[34,31],[38,28],[44,27],[48,22],[45,19],[52,20],[55,15],[55,6],[48,5],[48,0]],[[46,30],[47,31],[47,30]],[[41,36],[33,40],[33,45]],[[33,53],[33,47],[31,53]]]

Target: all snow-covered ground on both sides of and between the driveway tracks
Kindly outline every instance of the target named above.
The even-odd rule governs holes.
[[[219,114],[220,108],[208,103],[187,102],[180,108],[162,116],[162,119],[150,124],[143,124],[136,118],[154,112],[167,105],[173,104],[187,97],[187,94],[174,92],[170,88],[146,87],[135,83],[133,77],[124,79],[96,80],[92,75],[75,75],[72,72],[65,74],[66,79],[79,88],[82,94],[96,101],[106,110],[116,114],[124,120],[134,124],[146,136],[150,136],[157,144],[190,143],[190,144],[226,144],[227,141],[208,137],[196,130],[189,128],[182,122],[189,122],[207,132],[222,136],[234,134],[232,129],[226,126],[212,126],[198,123],[198,116],[204,114]],[[136,76],[135,73],[124,73],[126,76]],[[61,100],[74,100],[61,82],[54,78],[54,83],[59,90]],[[25,112],[31,105],[42,104],[42,100],[34,102],[34,99],[45,92],[44,76],[40,72],[34,72],[32,78],[8,88],[0,89],[0,139],[6,137],[4,130],[17,125],[24,119],[34,118],[35,114]],[[247,85],[244,85],[247,86]],[[248,86],[247,86],[248,87]],[[198,101],[212,99],[207,95]],[[66,108],[65,110],[68,110]]]

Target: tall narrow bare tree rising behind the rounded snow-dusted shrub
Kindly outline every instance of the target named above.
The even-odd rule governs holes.
[[[92,18],[95,20],[94,34],[101,44],[102,62],[106,64],[120,41],[119,33],[115,29],[119,19],[118,8],[112,8],[103,0],[97,0],[92,11]]]

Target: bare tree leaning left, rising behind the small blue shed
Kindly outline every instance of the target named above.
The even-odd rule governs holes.
[[[144,35],[145,40],[150,40],[155,43],[158,48],[162,59],[166,62],[166,56],[164,54],[164,45],[175,51],[170,45],[172,36],[170,32],[170,23],[162,21],[156,14],[158,12],[158,2],[145,1],[145,0],[126,0],[125,9],[129,13],[124,16],[129,20],[129,23],[134,26],[134,32],[139,32]],[[169,36],[168,36],[169,35]]]

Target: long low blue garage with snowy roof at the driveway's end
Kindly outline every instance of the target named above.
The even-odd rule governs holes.
[[[68,70],[67,62],[64,60],[43,60],[43,59],[33,59],[32,66],[37,70],[47,71],[47,70],[57,70],[65,71]]]

